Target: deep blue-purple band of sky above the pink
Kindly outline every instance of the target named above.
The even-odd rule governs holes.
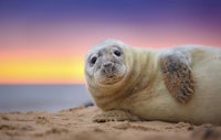
[[[219,0],[0,0],[0,19],[44,23],[60,21],[126,24],[221,24]]]

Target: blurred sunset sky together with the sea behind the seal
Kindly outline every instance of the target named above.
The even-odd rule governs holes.
[[[0,0],[0,111],[88,103],[84,55],[104,39],[138,47],[219,47],[221,1]]]

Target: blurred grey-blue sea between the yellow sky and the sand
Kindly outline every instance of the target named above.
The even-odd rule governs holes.
[[[0,112],[56,112],[91,103],[85,85],[0,85]]]

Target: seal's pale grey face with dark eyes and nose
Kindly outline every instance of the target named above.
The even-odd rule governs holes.
[[[106,40],[92,47],[85,58],[85,78],[88,85],[110,86],[119,83],[126,73],[124,43]]]

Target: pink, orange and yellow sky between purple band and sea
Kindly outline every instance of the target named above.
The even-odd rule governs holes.
[[[90,25],[30,26],[27,32],[6,28],[0,33],[0,84],[83,84],[84,55],[90,46],[109,37],[140,47],[188,43],[221,46],[219,33],[206,34],[201,29]]]

